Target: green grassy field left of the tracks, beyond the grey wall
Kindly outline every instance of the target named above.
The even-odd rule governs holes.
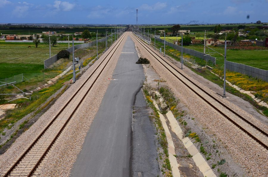
[[[68,43],[59,43],[51,47],[51,56],[67,48]],[[21,73],[42,72],[43,61],[49,58],[49,46],[40,43],[35,48],[34,43],[29,42],[1,42],[0,53],[0,79],[4,79]]]

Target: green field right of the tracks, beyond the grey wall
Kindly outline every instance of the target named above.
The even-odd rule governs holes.
[[[199,52],[204,51],[204,46],[202,45],[193,45],[193,46],[184,46],[186,48],[194,49]],[[213,50],[224,55],[224,47],[214,47],[209,46]],[[245,64],[248,66],[260,68],[267,70],[268,69],[268,49],[263,48],[264,50],[232,50],[228,49],[226,51],[226,60],[233,61],[236,63]],[[206,48],[206,52],[214,52]],[[219,65],[224,64],[224,57],[218,53],[210,53],[211,56],[216,57],[216,62]]]

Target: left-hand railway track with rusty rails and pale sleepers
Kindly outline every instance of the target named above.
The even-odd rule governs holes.
[[[123,41],[127,33],[123,34],[109,53],[89,75],[85,82],[73,94],[68,102],[60,109],[57,115],[27,148],[27,150],[18,158],[10,167],[4,176],[32,176],[38,168],[43,158],[51,149],[60,133],[66,127],[71,118],[75,115],[76,110],[87,96],[88,92],[94,86],[102,71],[105,69],[113,54]]]

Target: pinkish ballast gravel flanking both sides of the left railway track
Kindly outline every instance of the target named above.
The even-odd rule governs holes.
[[[112,78],[112,73],[116,67],[116,63],[121,54],[124,42],[127,36],[117,48],[112,59],[107,64],[102,74],[99,76],[92,90],[77,109],[74,116],[69,121],[66,128],[60,134],[57,141],[54,143],[45,159],[41,162],[35,174],[40,176],[68,176],[72,168],[77,154],[82,149],[84,138],[90,125],[94,119],[96,112],[99,109],[102,98],[110,83],[109,78]],[[116,45],[115,43],[113,46]],[[112,46],[112,47],[113,47]],[[56,116],[57,112],[62,108],[74,92],[82,85],[82,83],[93,72],[97,65],[108,54],[110,47],[99,60],[95,62],[82,76],[76,81],[68,90],[66,90],[61,97],[57,99],[54,105],[49,108],[26,132],[24,132],[13,145],[0,156],[0,176],[8,170],[11,165],[19,158],[29,145],[37,138],[41,131],[49,124],[49,122]]]

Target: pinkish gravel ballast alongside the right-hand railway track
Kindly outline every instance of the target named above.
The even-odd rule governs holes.
[[[133,40],[135,41],[136,39]],[[175,96],[188,107],[191,114],[196,117],[201,126],[204,127],[209,134],[215,135],[217,140],[222,141],[233,159],[235,159],[236,162],[239,162],[247,171],[247,174],[245,174],[246,176],[268,176],[267,150],[264,150],[264,148],[258,145],[258,143],[248,135],[224,118],[216,110],[212,109],[200,97],[193,94],[191,90],[166,69],[163,69],[163,66],[161,66],[161,64],[159,64],[147,50],[141,47],[138,42],[135,42],[135,45],[137,45],[142,55],[150,60],[156,73],[163,80],[166,80],[167,85],[172,89]],[[199,85],[202,85],[202,83],[199,83]],[[211,93],[209,88],[205,89]],[[228,102],[228,100],[223,100],[223,102],[232,106],[233,109],[237,110],[241,115],[245,114],[243,116],[251,117],[247,113],[244,113],[243,110],[240,110],[236,105]],[[254,117],[251,118],[253,122],[256,122],[257,126],[260,124],[260,127],[267,128],[257,120],[254,120]]]

